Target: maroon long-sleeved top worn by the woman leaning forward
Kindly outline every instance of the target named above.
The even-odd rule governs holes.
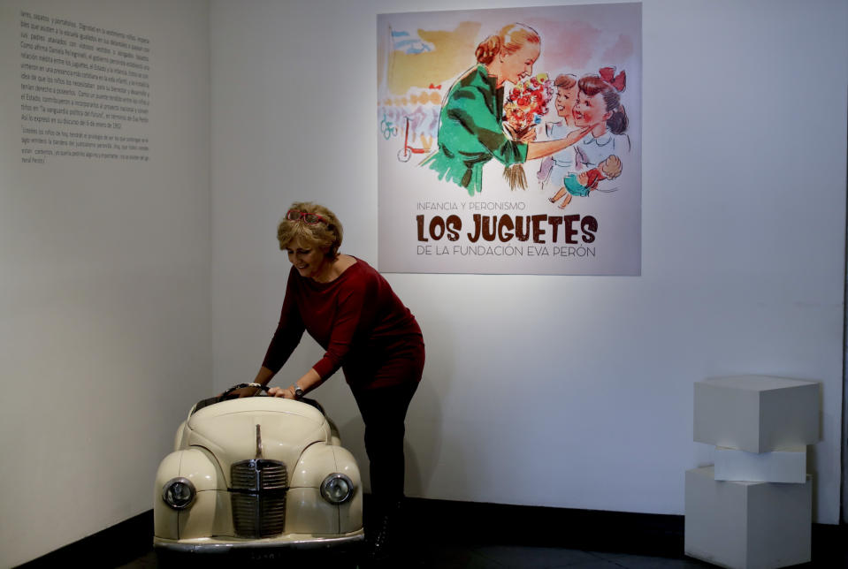
[[[301,277],[292,267],[279,325],[263,366],[275,374],[303,330],[326,350],[313,366],[321,379],[342,368],[352,387],[398,385],[421,379],[424,340],[415,316],[367,262],[356,262],[329,283]],[[410,368],[410,361],[418,361]]]

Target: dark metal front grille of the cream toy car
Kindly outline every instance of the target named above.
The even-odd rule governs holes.
[[[253,459],[230,467],[233,526],[239,537],[273,537],[286,525],[288,473],[279,460]]]

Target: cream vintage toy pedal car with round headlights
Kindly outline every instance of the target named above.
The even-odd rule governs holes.
[[[192,407],[154,486],[158,552],[345,548],[363,541],[359,467],[309,399],[231,398]]]

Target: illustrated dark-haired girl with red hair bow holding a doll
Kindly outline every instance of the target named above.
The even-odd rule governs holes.
[[[562,187],[549,198],[554,203],[563,198],[561,209],[568,207],[571,196],[587,196],[598,189],[601,179],[613,179],[621,174],[622,162],[618,156],[630,152],[630,138],[626,134],[628,118],[620,95],[625,80],[624,72],[615,75],[615,69],[604,67],[598,75],[586,75],[577,81],[577,102],[572,110],[574,125],[592,126],[592,131],[574,145],[574,171],[562,178]],[[581,177],[581,173],[586,176]]]

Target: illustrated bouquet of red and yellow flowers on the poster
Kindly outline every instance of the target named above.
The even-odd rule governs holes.
[[[522,140],[531,129],[542,122],[547,113],[547,103],[554,96],[554,82],[547,73],[523,80],[512,88],[503,105],[504,128],[512,140]],[[527,177],[521,164],[507,166],[503,171],[509,188],[515,190],[527,188]]]

